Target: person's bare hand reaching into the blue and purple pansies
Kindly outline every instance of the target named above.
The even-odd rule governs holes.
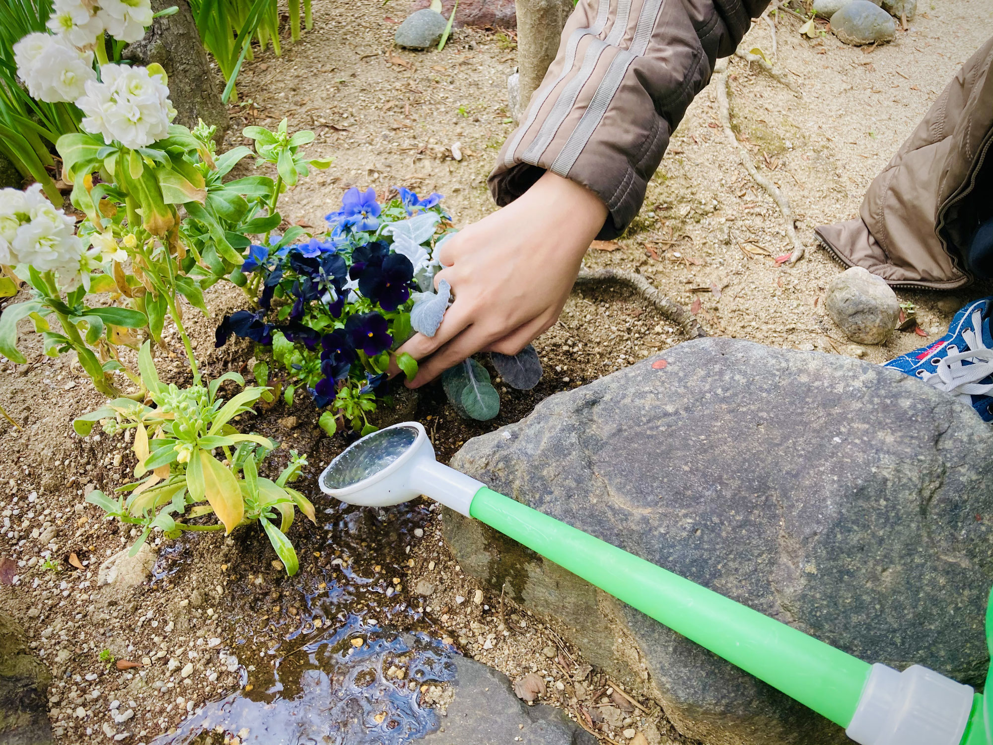
[[[397,351],[420,363],[416,388],[481,351],[516,355],[558,319],[580,262],[607,219],[593,192],[545,173],[512,204],[471,224],[441,248],[455,302],[433,337]]]

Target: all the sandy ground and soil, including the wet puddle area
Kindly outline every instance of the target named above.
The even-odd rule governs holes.
[[[296,45],[285,40],[280,59],[257,55],[239,77],[228,146],[242,144],[245,124],[272,127],[288,116],[291,130],[318,133],[309,152],[335,159],[286,196],[289,222],[319,226],[353,185],[374,186],[380,195],[393,185],[439,191],[457,225],[494,209],[485,182],[512,126],[505,92],[512,35],[457,29],[441,53],[396,50],[391,38],[406,15],[404,2],[314,0],[313,31]],[[845,341],[819,302],[838,267],[811,236],[817,224],[854,215],[869,181],[979,47],[993,18],[984,0],[919,7],[910,31],[874,50],[845,47],[831,36],[806,40],[796,33],[798,21],[780,19],[775,64],[802,97],[741,60],[731,64],[733,121],[760,169],[792,203],[809,248],[801,262],[775,265],[773,257],[788,250],[780,214],[728,147],[712,92],[704,91],[675,132],[636,223],[617,244],[591,249],[586,265],[641,273],[692,309],[712,335],[876,363],[919,346],[921,337],[902,333],[882,347]],[[757,24],[743,46],[772,55],[769,28]],[[455,143],[462,160],[453,157]],[[218,285],[208,293],[213,321],[186,307],[207,376],[251,369],[247,345],[213,350],[215,321],[245,307],[239,292]],[[933,338],[980,292],[898,294],[918,305],[922,330]],[[292,407],[280,401],[240,422],[283,443],[268,463],[273,472],[291,449],[308,457],[300,484],[318,507],[318,524],[298,516],[290,532],[299,574],[287,578],[274,566],[275,554],[250,526],[226,538],[213,532],[156,539],[158,557],[144,584],[124,595],[110,592],[113,585],[97,587],[96,567],[133,538],[83,497],[127,483],[134,458],[120,437],[72,433],[72,417],[100,405],[99,396],[76,364],[44,357],[27,324],[23,333],[29,364],[0,363],[0,404],[20,426],[0,420],[0,604],[23,622],[31,647],[54,673],[50,715],[60,741],[123,735],[117,741],[186,742],[219,726],[198,741],[235,743],[250,739],[266,717],[287,727],[317,717],[338,728],[322,734],[327,742],[399,742],[432,726],[434,714],[420,704],[443,703],[444,660],[457,653],[514,679],[539,672],[548,681],[545,699],[601,737],[625,740],[622,731],[634,729],[652,745],[682,741],[645,699],[638,699],[642,711],[608,693],[612,683],[588,671],[553,629],[478,593],[441,541],[429,503],[368,511],[321,497],[316,476],[346,438],[324,436],[314,406],[300,396]],[[447,460],[466,440],[519,420],[546,396],[682,339],[632,290],[584,286],[535,341],[545,371],[540,383],[516,391],[495,379],[496,419],[462,419],[440,386],[430,385],[416,397],[397,395],[397,408],[380,412],[378,421],[418,419]],[[175,335],[169,343],[173,352],[160,358],[160,373],[188,382]],[[82,568],[73,566],[73,554]],[[104,651],[104,658],[145,664],[120,671],[100,660]],[[600,705],[590,708],[594,701]],[[593,712],[589,721],[584,711]],[[116,721],[114,712],[126,718]]]

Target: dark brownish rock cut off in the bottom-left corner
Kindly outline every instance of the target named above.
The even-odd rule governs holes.
[[[28,650],[24,630],[0,614],[0,742],[55,742],[48,709],[51,681],[52,673]]]

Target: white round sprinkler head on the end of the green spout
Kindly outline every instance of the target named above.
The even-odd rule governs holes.
[[[321,474],[321,491],[349,505],[390,507],[424,495],[462,515],[484,484],[435,460],[419,422],[356,440]]]

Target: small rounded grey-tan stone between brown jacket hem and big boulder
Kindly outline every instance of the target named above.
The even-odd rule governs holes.
[[[824,309],[845,336],[858,344],[882,344],[900,320],[897,294],[868,269],[845,269],[827,286]]]

